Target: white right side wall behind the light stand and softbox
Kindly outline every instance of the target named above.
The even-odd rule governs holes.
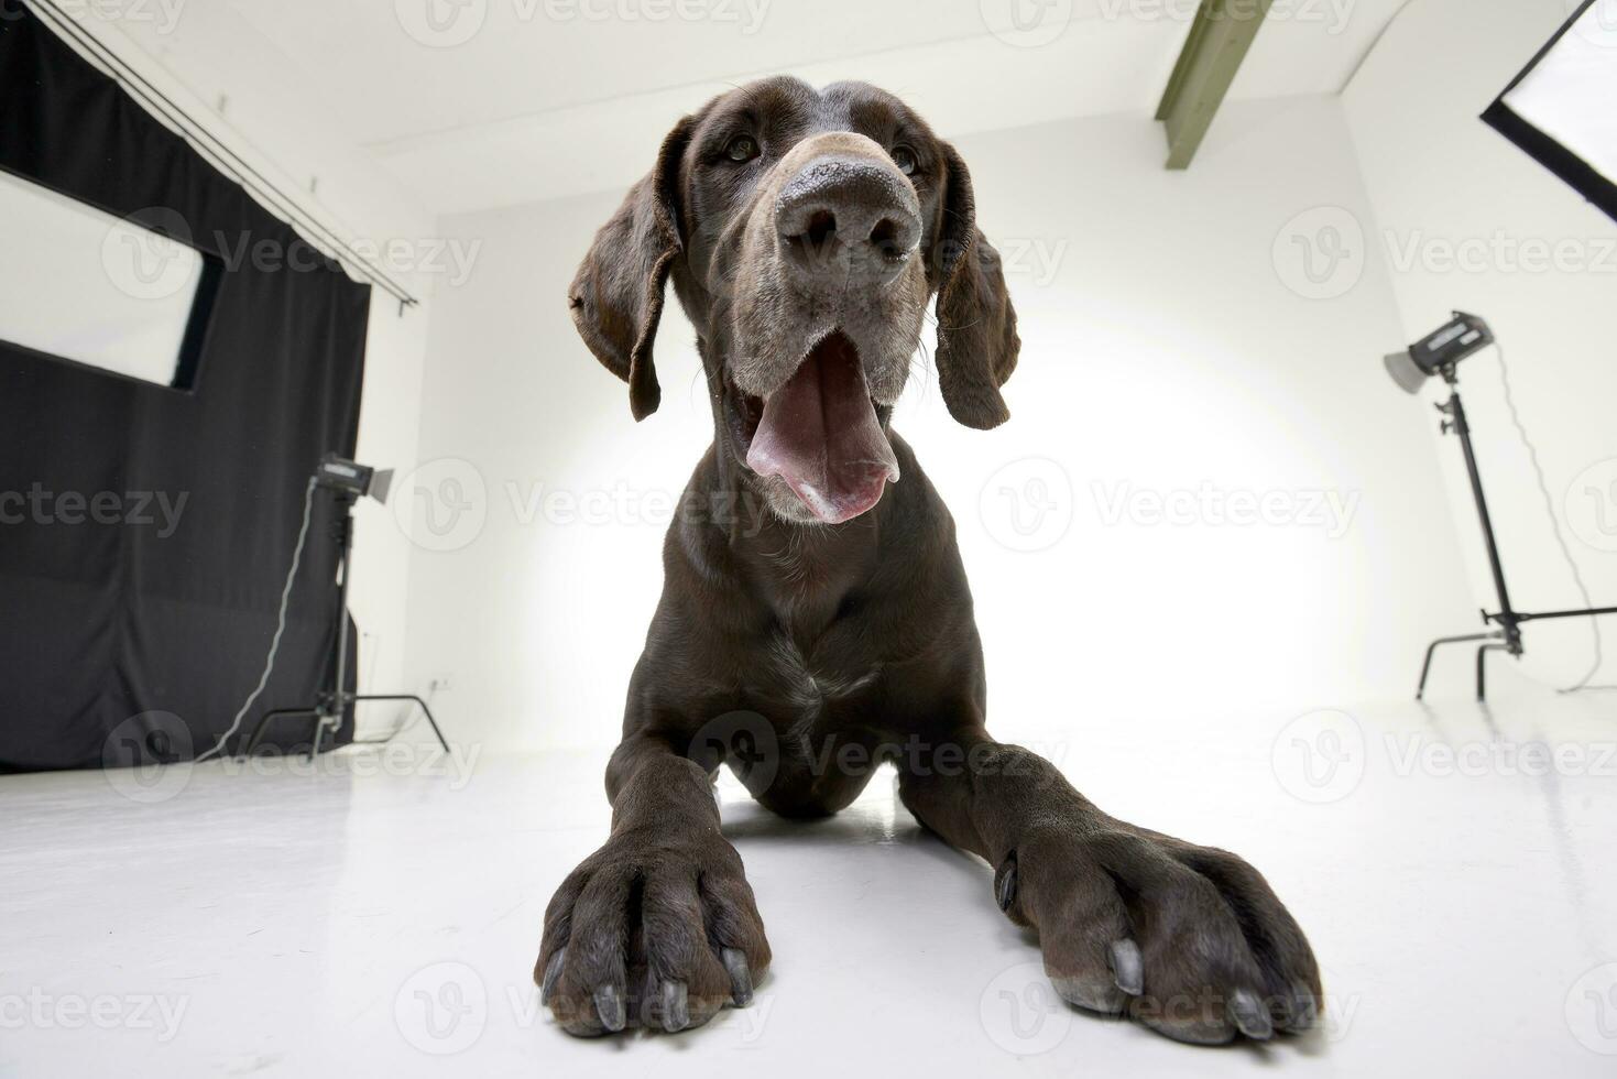
[[[1416,0],[1344,104],[1374,204],[1374,218],[1363,218],[1365,235],[1386,256],[1404,340],[1436,328],[1452,307],[1492,324],[1572,555],[1596,605],[1614,605],[1617,225],[1476,118],[1567,15],[1564,0]],[[1460,377],[1512,600],[1523,610],[1581,607],[1505,408],[1499,361],[1478,356]],[[1439,396],[1439,387],[1425,395]],[[1400,411],[1402,422],[1433,427],[1425,404]],[[1492,610],[1460,448],[1442,438],[1438,453],[1463,537],[1468,608]],[[1468,610],[1455,610],[1428,628],[1462,631],[1473,623]],[[1577,681],[1594,654],[1591,626],[1590,620],[1530,626],[1523,671],[1552,684]],[[1606,626],[1598,681],[1617,675],[1617,623]]]

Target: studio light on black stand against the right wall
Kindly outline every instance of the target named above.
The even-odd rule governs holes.
[[[1544,621],[1547,618],[1594,618],[1599,615],[1617,615],[1617,607],[1590,607],[1580,610],[1528,613],[1518,611],[1510,605],[1510,589],[1505,587],[1505,571],[1499,561],[1499,544],[1494,540],[1494,521],[1488,513],[1488,497],[1483,493],[1483,476],[1476,468],[1476,451],[1471,446],[1471,425],[1465,419],[1465,404],[1460,401],[1460,380],[1455,374],[1455,367],[1462,359],[1476,349],[1491,345],[1494,338],[1486,324],[1476,315],[1455,312],[1455,319],[1457,322],[1444,327],[1433,336],[1426,338],[1426,341],[1413,345],[1408,353],[1389,356],[1387,366],[1392,377],[1399,380],[1399,385],[1410,393],[1418,388],[1420,375],[1423,374],[1438,374],[1449,385],[1449,400],[1436,408],[1444,416],[1441,424],[1442,434],[1459,435],[1460,450],[1465,453],[1465,472],[1471,480],[1471,498],[1476,501],[1476,516],[1483,526],[1483,545],[1488,548],[1488,568],[1492,573],[1494,597],[1499,602],[1497,611],[1489,613],[1488,610],[1483,610],[1480,613],[1484,624],[1497,628],[1484,633],[1462,634],[1457,637],[1438,637],[1426,645],[1426,660],[1420,668],[1420,686],[1415,689],[1416,700],[1426,696],[1426,676],[1431,675],[1431,657],[1441,645],[1481,642],[1476,649],[1476,699],[1486,700],[1488,654],[1509,652],[1510,655],[1522,655],[1525,652],[1525,645],[1522,644],[1522,626],[1525,623]],[[1471,332],[1475,332],[1475,335]],[[1413,361],[1413,364],[1407,361]]]

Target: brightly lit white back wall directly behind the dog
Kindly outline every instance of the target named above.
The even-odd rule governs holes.
[[[1379,264],[1319,303],[1276,241],[1313,207],[1368,214],[1340,105],[1239,104],[1190,173],[1163,170],[1143,116],[959,146],[1020,311],[1014,417],[956,427],[927,370],[894,422],[959,523],[996,730],[1059,726],[1072,700],[1213,718],[1408,694],[1431,626],[1468,597],[1423,421],[1379,364],[1405,333]],[[458,527],[441,518],[453,550],[412,561],[409,666],[454,676],[458,738],[616,739],[668,501],[711,434],[679,314],[658,341],[663,408],[640,425],[568,320],[566,283],[618,197],[443,223],[485,246],[433,312],[420,456],[446,461],[420,487],[485,493]],[[1203,485],[1290,523],[1221,523]],[[1135,501],[1109,523],[1121,492]],[[1153,497],[1192,500],[1193,519],[1155,521]],[[1352,506],[1345,527],[1315,523],[1326,497]]]

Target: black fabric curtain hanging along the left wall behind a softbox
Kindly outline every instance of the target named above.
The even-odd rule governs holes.
[[[0,168],[116,217],[178,215],[217,290],[192,320],[189,390],[0,341],[0,498],[23,497],[0,505],[0,770],[100,767],[113,733],[184,759],[257,684],[317,459],[353,456],[370,288],[32,11],[10,2],[5,13]],[[278,257],[233,262],[255,244]],[[102,513],[81,508],[95,498]],[[327,684],[333,524],[317,493],[280,658],[247,730]],[[349,717],[338,741],[351,733]],[[307,739],[301,725],[270,741]]]

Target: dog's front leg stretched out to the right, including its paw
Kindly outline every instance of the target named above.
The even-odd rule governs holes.
[[[983,733],[902,762],[899,791],[996,867],[999,908],[1038,932],[1070,1003],[1198,1043],[1315,1022],[1308,941],[1240,857],[1108,817],[1048,760]]]

